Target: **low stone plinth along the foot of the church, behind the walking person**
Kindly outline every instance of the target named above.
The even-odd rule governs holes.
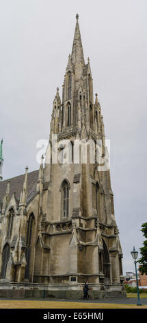
[[[126,292],[122,285],[101,287],[88,284],[89,299],[124,298]],[[0,282],[0,298],[58,298],[67,300],[83,299],[83,284],[44,285],[34,283]]]

